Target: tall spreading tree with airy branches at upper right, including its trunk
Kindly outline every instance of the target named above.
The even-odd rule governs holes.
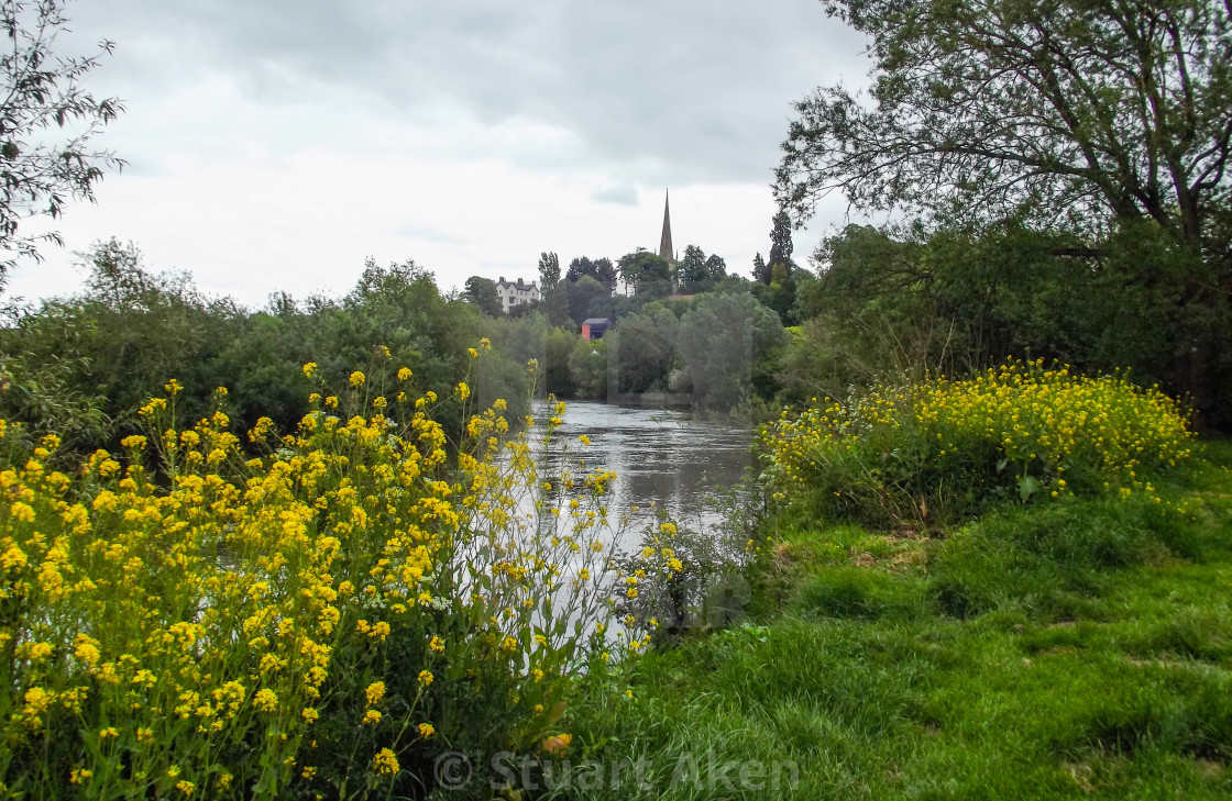
[[[1217,406],[1209,380],[1232,298],[1232,5],[829,0],[827,10],[871,39],[871,102],[829,86],[796,105],[779,202],[797,220],[838,189],[860,208],[950,221],[1135,239],[1156,228],[1174,252],[1140,274],[1184,288],[1167,333],[1175,386]]]

